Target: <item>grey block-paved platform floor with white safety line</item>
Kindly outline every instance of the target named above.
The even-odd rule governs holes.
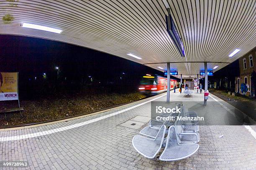
[[[243,125],[241,113],[233,106],[214,95],[207,106],[202,106],[200,93],[187,97],[172,91],[170,96],[174,102],[192,101],[187,107],[206,116],[207,123],[200,125],[200,148],[184,160],[162,162],[160,154],[153,160],[144,158],[134,150],[132,138],[146,125],[120,126],[138,115],[150,117],[151,101],[165,101],[164,93],[97,115],[0,132],[1,161],[28,161],[27,168],[19,169],[31,170],[256,169],[256,126]],[[241,125],[225,125],[236,118]]]

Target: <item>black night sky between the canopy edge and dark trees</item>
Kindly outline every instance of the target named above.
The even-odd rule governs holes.
[[[60,68],[67,80],[81,75],[98,81],[113,81],[120,76],[138,83],[145,74],[163,75],[158,70],[85,47],[33,37],[0,35],[0,71],[19,72],[20,79],[56,75]],[[139,78],[138,78],[139,77]]]

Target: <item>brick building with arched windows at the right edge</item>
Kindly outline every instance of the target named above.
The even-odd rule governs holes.
[[[235,91],[242,94],[241,84],[244,83],[248,88],[248,91],[245,93],[245,95],[253,96],[254,89],[252,88],[251,74],[253,73],[253,70],[256,72],[256,47],[246,55],[243,55],[243,57],[240,57],[238,60],[240,76],[236,77]]]

